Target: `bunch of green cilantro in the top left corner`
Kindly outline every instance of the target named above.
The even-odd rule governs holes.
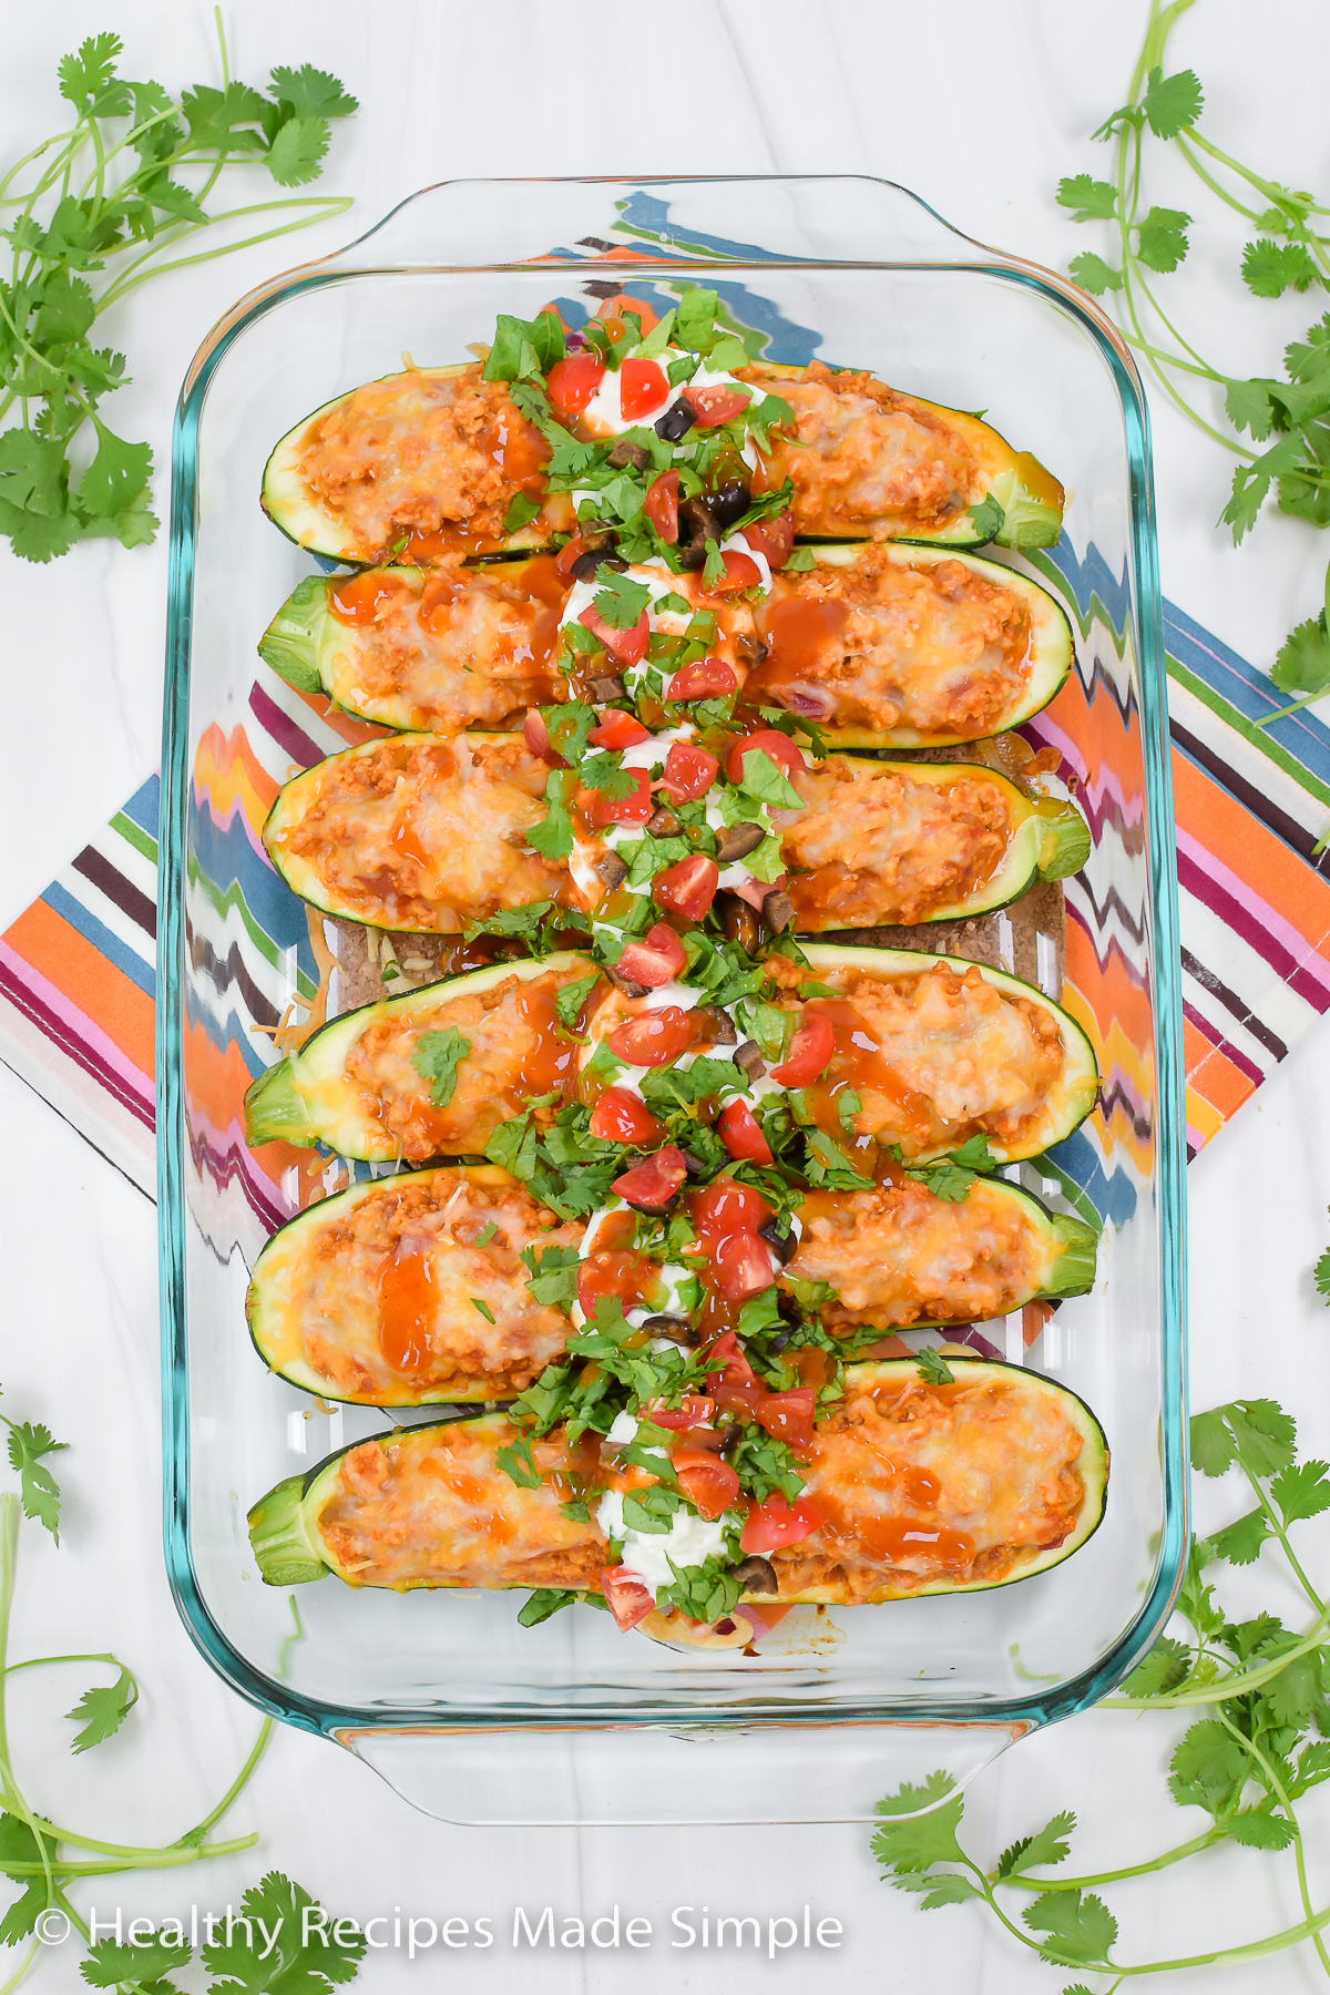
[[[279,188],[317,180],[331,120],[357,108],[335,76],[311,64],[275,68],[265,92],[233,80],[219,10],[217,40],[221,90],[195,84],[173,98],[162,84],[118,74],[120,36],[88,36],[60,64],[74,124],[0,178],[0,207],[12,217],[2,231],[10,267],[0,277],[0,417],[16,415],[0,433],[0,533],[24,561],[52,561],[88,539],[140,547],[158,531],[152,449],[102,419],[104,397],[130,375],[124,353],[94,345],[98,317],[150,277],[351,205],[293,196],[209,211],[231,164],[265,166]],[[193,245],[203,229],[251,215],[261,217],[259,233]]]

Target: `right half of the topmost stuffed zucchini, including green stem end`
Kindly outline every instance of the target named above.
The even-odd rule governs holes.
[[[774,433],[754,489],[790,479],[796,533],[949,547],[1053,547],[1061,533],[1063,487],[977,415],[822,361],[756,361],[738,379],[794,409],[794,435]]]

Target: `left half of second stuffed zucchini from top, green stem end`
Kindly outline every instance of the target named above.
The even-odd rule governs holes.
[[[550,555],[307,575],[259,656],[299,692],[387,728],[520,726],[528,706],[568,698],[554,658],[570,587]]]

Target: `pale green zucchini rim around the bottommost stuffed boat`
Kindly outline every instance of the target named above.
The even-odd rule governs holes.
[[[1079,1552],[1081,1546],[1093,1538],[1105,1518],[1111,1468],[1109,1442],[1103,1426],[1085,1400],[1067,1387],[1055,1385],[1051,1379],[1043,1379],[1039,1373],[1025,1371],[1019,1365],[1003,1365],[989,1359],[949,1359],[949,1363],[953,1367],[953,1375],[963,1377],[965,1383],[973,1379],[1019,1381],[1025,1391],[1047,1395],[1059,1404],[1081,1434],[1081,1456],[1077,1460],[1077,1470],[1085,1484],[1081,1510],[1073,1530],[1059,1546],[1039,1552],[1033,1560],[1009,1572],[1005,1578],[941,1578],[927,1586],[909,1588],[901,1594],[883,1592],[883,1600],[913,1600],[923,1598],[925,1594],[977,1594],[991,1592],[997,1586],[1015,1586],[1021,1580],[1035,1578],[1039,1572],[1049,1572],[1053,1566],[1065,1564],[1073,1552]],[[891,1385],[893,1381],[905,1383],[913,1379],[921,1379],[919,1363],[915,1359],[877,1359],[873,1363],[845,1367],[845,1381],[861,1387]],[[443,1426],[451,1422],[439,1424]],[[487,1414],[471,1424],[477,1428],[485,1424],[500,1424],[500,1416]],[[399,1432],[401,1428],[389,1428],[387,1432],[373,1434],[369,1438],[393,1440]],[[417,1432],[417,1428],[413,1428],[413,1432]],[[249,1510],[249,1542],[259,1566],[259,1576],[267,1586],[305,1586],[313,1580],[325,1578],[329,1572],[337,1574],[337,1578],[341,1578],[347,1586],[357,1584],[351,1574],[341,1572],[337,1566],[319,1534],[317,1522],[319,1512],[333,1494],[343,1456],[357,1446],[365,1446],[365,1442],[349,1442],[337,1454],[329,1454],[323,1462],[317,1462],[307,1474],[287,1476],[275,1488],[267,1490],[267,1494],[261,1496]],[[752,1600],[754,1604],[772,1604],[774,1596],[744,1594],[744,1600]],[[818,1586],[798,1594],[780,1596],[782,1606],[796,1602],[835,1604],[835,1600],[837,1592],[833,1586]]]

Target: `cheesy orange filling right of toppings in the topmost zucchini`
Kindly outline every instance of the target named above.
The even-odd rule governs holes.
[[[764,375],[744,369],[740,379],[762,383]],[[979,497],[965,437],[941,411],[869,373],[831,373],[812,361],[798,377],[770,379],[770,389],[794,409],[798,441],[772,439],[764,489],[792,481],[796,533],[927,531]]]

